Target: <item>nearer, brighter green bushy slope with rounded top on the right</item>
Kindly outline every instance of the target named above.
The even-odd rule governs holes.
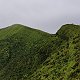
[[[63,25],[51,56],[24,80],[80,80],[80,26]]]

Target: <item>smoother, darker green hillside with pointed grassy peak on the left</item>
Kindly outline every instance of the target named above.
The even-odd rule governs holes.
[[[50,55],[51,35],[23,25],[0,32],[0,80],[19,80],[31,75]]]

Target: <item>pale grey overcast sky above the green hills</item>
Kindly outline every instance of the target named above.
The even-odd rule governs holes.
[[[0,0],[0,28],[23,24],[49,33],[80,24],[80,0]]]

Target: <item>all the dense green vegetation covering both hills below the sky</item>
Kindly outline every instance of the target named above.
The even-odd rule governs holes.
[[[0,80],[80,80],[80,26],[49,34],[20,24],[0,29]]]

